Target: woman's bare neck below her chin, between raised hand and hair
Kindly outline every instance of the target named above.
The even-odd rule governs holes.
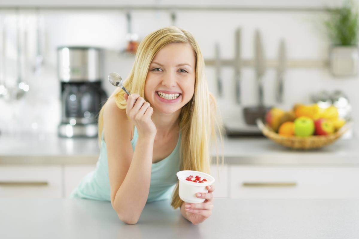
[[[172,114],[153,112],[151,119],[157,128],[156,138],[167,138],[173,132],[178,132],[180,128],[180,113],[181,110],[177,110]]]

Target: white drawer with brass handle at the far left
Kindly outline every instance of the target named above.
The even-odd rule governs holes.
[[[61,166],[0,166],[0,197],[61,198]]]

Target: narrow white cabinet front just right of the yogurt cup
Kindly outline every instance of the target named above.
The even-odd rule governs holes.
[[[228,172],[229,166],[224,164],[222,166],[219,164],[214,164],[211,166],[211,175],[214,177],[214,187],[213,197],[229,197],[228,194]]]

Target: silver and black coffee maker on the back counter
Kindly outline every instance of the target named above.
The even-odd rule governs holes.
[[[98,113],[107,99],[101,87],[102,63],[101,48],[57,48],[57,75],[61,82],[60,137],[97,137]]]

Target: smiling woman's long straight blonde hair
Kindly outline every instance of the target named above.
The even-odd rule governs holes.
[[[168,43],[189,43],[194,50],[196,58],[194,95],[192,99],[182,107],[179,116],[181,130],[180,167],[181,170],[195,170],[210,173],[211,141],[214,141],[216,145],[218,165],[219,157],[216,131],[219,134],[223,149],[223,125],[216,112],[215,98],[208,91],[204,59],[193,35],[184,29],[174,26],[160,28],[147,35],[138,46],[134,65],[123,85],[126,89],[129,89],[130,92],[136,92],[145,98],[144,88],[149,65],[155,54]],[[114,97],[118,108],[126,109],[126,100],[123,97],[122,89],[117,88],[110,98],[111,97]],[[101,141],[103,130],[103,110],[104,107],[102,107],[98,118],[99,141]],[[223,162],[224,158],[222,155],[222,164]],[[182,202],[178,196],[177,182],[173,191],[171,206],[177,209],[181,206]]]

